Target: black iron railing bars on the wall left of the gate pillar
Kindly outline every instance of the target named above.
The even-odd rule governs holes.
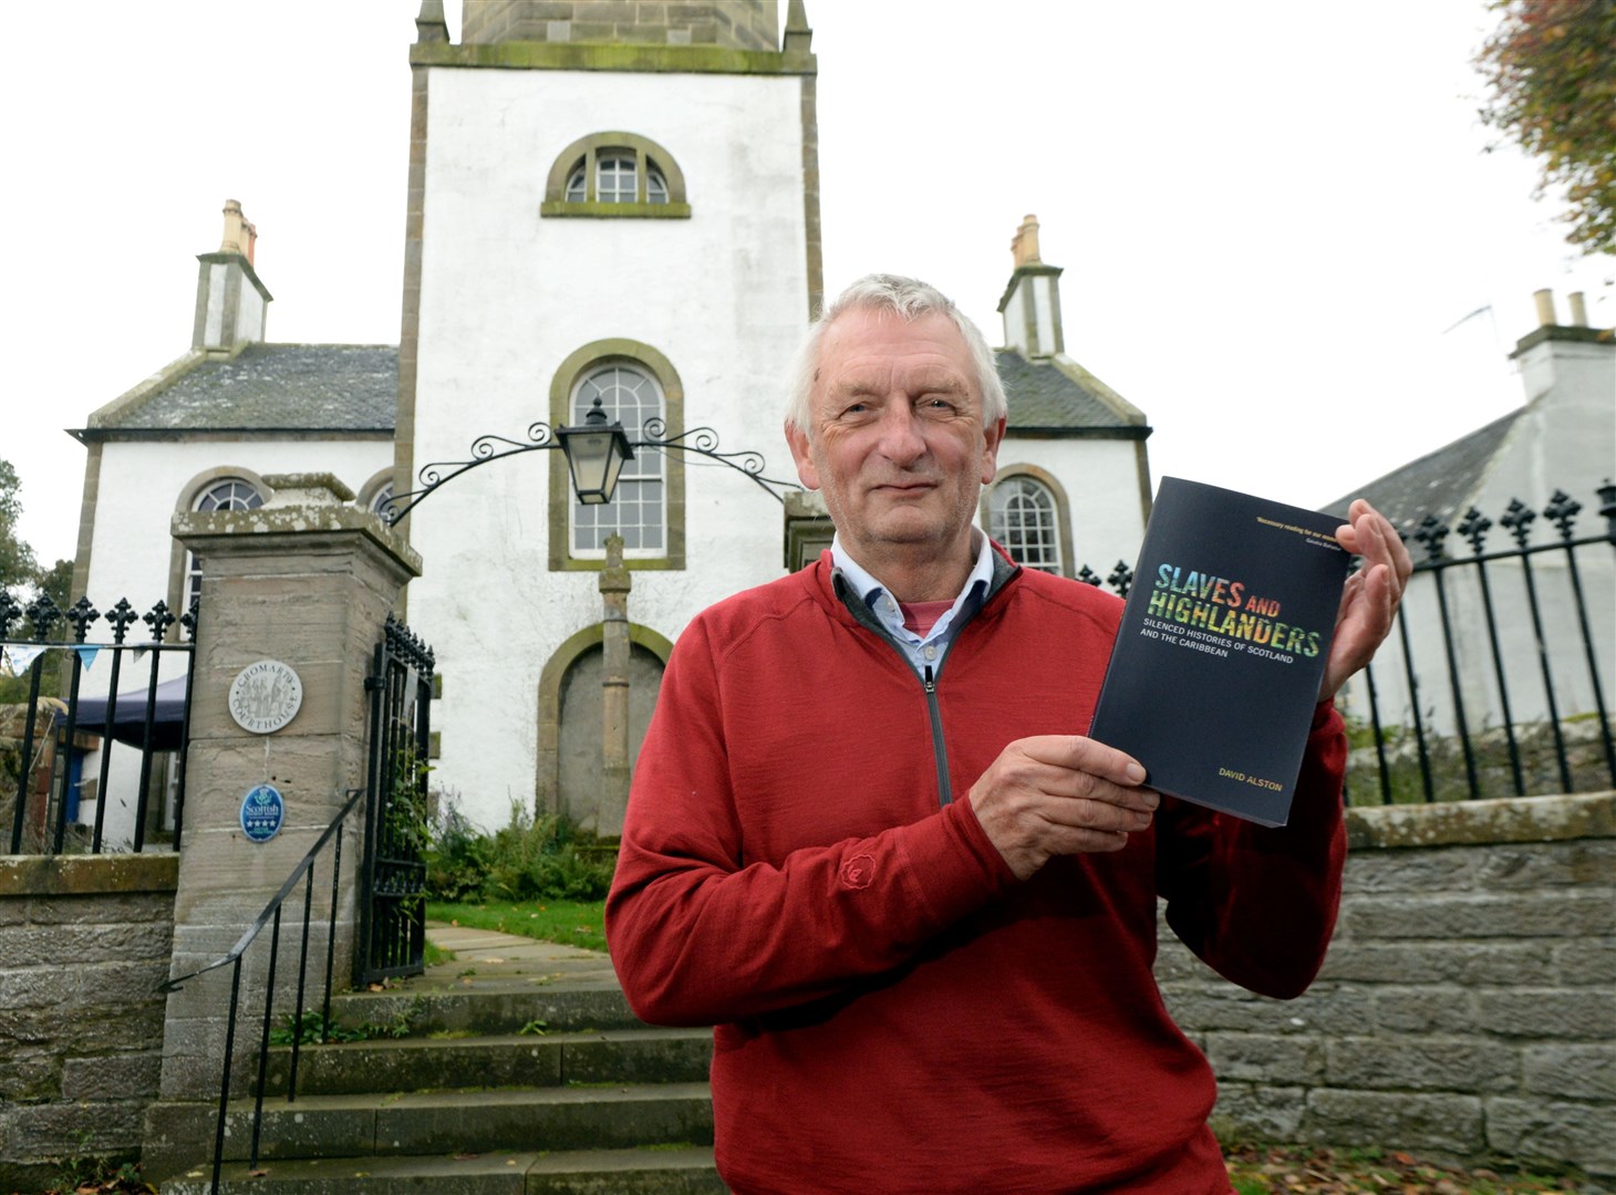
[[[112,627],[112,639],[89,641],[90,627],[103,618]],[[131,641],[129,630],[142,622],[150,639]],[[176,622],[184,639],[165,641]],[[87,785],[82,777],[89,749],[86,735],[100,736],[95,819],[89,827],[87,849],[100,854],[110,846],[107,811],[116,796],[110,788],[115,743],[139,753],[139,778],[133,793],[134,825],[129,838],[120,838],[116,845],[145,849],[154,775],[158,774],[162,757],[171,754],[170,845],[171,849],[179,849],[184,832],[196,625],[196,606],[176,617],[166,602],[157,602],[142,615],[128,599],[120,599],[103,615],[87,598],[79,598],[61,610],[47,594],[19,606],[10,593],[0,589],[0,651],[8,662],[24,660],[27,677],[27,698],[0,712],[0,751],[15,756],[15,775],[11,759],[0,769],[0,807],[11,806],[8,824],[0,825],[0,843],[8,846],[10,854],[61,854],[69,848],[68,827],[78,824],[79,796]],[[47,660],[61,664],[48,680]],[[84,673],[99,660],[107,662],[107,694],[81,698]],[[165,669],[170,660],[183,660],[183,678],[163,680],[163,672],[173,670]],[[139,678],[139,688],[120,693],[126,672]],[[168,693],[171,688],[178,690],[173,698]],[[121,770],[120,783],[124,778],[126,772]]]

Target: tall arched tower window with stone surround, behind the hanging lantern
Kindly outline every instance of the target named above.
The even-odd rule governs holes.
[[[684,430],[685,391],[679,371],[642,341],[595,341],[572,352],[549,383],[551,426],[579,426],[596,399],[608,420],[622,423],[630,441],[643,438],[648,420],[661,420],[658,436]],[[604,567],[604,541],[612,531],[624,539],[629,568],[685,567],[680,454],[637,449],[633,460],[624,462],[617,489],[604,505],[579,502],[566,457],[549,454],[549,567]]]

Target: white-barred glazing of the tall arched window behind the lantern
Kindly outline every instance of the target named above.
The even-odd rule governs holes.
[[[663,420],[663,391],[633,362],[608,362],[590,370],[572,396],[572,425],[583,423],[600,400],[608,420],[622,423],[629,439],[637,439],[648,420]],[[640,452],[624,462],[611,502],[585,505],[572,497],[572,556],[604,557],[604,541],[612,531],[622,536],[625,559],[663,556],[667,551],[667,501],[663,454]]]

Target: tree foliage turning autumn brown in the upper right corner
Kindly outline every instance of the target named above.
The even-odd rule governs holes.
[[[1482,120],[1543,158],[1542,195],[1566,191],[1566,239],[1616,254],[1616,0],[1493,0],[1498,31],[1477,66]]]

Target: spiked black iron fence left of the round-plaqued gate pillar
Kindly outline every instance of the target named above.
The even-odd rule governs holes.
[[[15,673],[0,701],[8,854],[179,849],[196,620],[196,606],[176,617],[120,599],[102,614],[87,598],[63,610],[0,589],[0,675]],[[100,622],[110,638],[92,638]],[[168,641],[176,622],[183,638]]]

